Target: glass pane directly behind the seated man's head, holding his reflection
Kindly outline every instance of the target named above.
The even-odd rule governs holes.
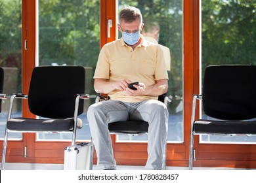
[[[182,58],[182,0],[165,1],[133,1],[119,0],[118,9],[130,5],[140,9],[144,22],[142,33],[155,29],[158,31],[158,39],[155,42],[169,48],[167,52],[171,55],[167,61],[167,72],[169,74],[168,95],[173,96],[172,103],[168,104],[169,131],[168,142],[182,143],[184,141],[183,122],[183,58]],[[151,27],[150,27],[151,26]],[[152,27],[154,26],[154,27]],[[121,34],[119,33],[119,37]],[[146,36],[148,39],[148,36]],[[151,37],[152,39],[152,37]],[[130,137],[119,135],[117,141],[146,141],[147,136]]]

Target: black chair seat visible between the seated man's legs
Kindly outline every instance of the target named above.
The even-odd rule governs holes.
[[[110,133],[140,134],[148,133],[148,122],[123,121],[108,124]]]

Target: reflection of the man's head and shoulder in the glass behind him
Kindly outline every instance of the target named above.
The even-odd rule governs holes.
[[[158,22],[148,19],[146,21],[145,26],[141,31],[142,35],[147,41],[154,42],[158,44],[159,36],[160,36],[160,25]],[[167,71],[171,71],[171,52],[167,46],[163,46],[159,44],[161,49],[163,50],[163,57],[165,58],[166,69]]]

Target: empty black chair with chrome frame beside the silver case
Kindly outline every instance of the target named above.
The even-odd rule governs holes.
[[[1,169],[5,167],[8,134],[12,132],[69,132],[75,144],[76,129],[83,122],[77,118],[83,113],[85,69],[79,66],[42,66],[33,69],[28,95],[14,94],[10,101],[3,144]],[[32,114],[41,118],[11,118],[15,98],[28,99]]]

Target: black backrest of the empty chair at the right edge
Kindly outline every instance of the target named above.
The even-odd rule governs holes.
[[[211,65],[203,80],[203,110],[221,120],[256,118],[256,65]]]

